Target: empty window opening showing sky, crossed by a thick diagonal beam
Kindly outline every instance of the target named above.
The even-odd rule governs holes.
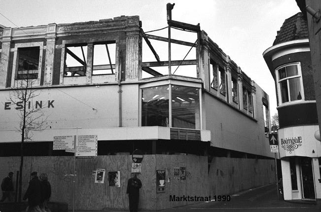
[[[86,75],[87,44],[66,47],[65,76]]]

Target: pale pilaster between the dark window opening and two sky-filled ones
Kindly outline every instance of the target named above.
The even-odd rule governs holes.
[[[47,27],[47,45],[46,58],[43,76],[44,85],[52,85],[52,76],[54,71],[54,57],[55,57],[55,41],[56,41],[56,24],[49,24]]]

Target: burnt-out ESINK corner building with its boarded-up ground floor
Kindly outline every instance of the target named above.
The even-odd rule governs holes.
[[[128,207],[135,149],[144,155],[141,209],[192,203],[169,195],[227,195],[274,181],[268,95],[199,25],[169,23],[196,32],[197,41],[144,33],[138,16],[1,29],[1,173],[19,167],[21,104],[10,95],[30,82],[37,95],[26,107],[41,108],[46,128],[24,144],[23,190],[30,170],[48,173],[51,200],[71,207],[73,153],[55,150],[53,140],[81,135],[97,135],[98,146],[97,156],[75,162],[78,210]],[[164,60],[152,40],[194,53]],[[154,61],[143,61],[143,45]],[[180,167],[185,177],[176,175]],[[108,186],[108,175],[95,183],[96,169],[119,171],[120,187]],[[161,192],[156,170],[166,173]]]

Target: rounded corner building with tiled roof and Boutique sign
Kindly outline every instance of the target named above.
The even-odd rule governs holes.
[[[321,145],[308,23],[299,12],[285,19],[263,57],[275,80],[285,200],[321,198]]]

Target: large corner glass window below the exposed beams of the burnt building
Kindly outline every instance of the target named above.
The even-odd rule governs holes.
[[[200,129],[200,89],[162,85],[142,89],[142,126]],[[171,103],[171,104],[169,104]]]

